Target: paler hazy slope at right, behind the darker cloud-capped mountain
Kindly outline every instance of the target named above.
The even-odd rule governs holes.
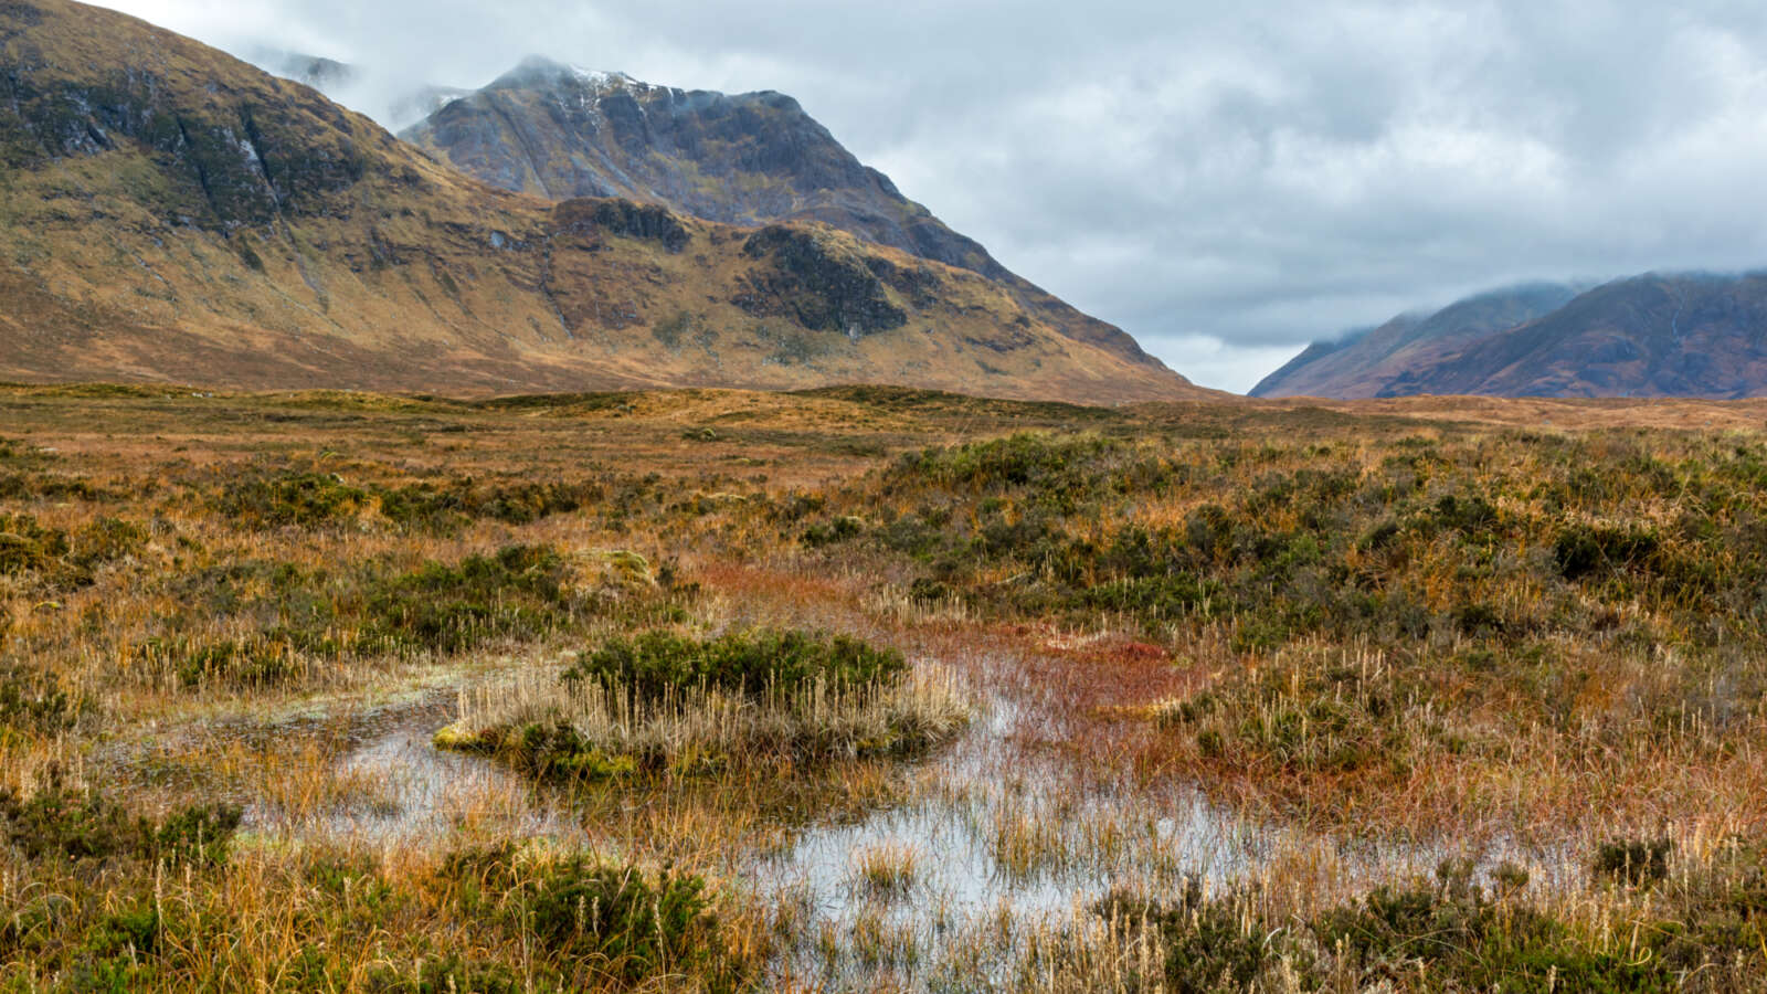
[[[1391,322],[1332,341],[1316,341],[1251,389],[1251,396],[1387,396],[1391,384],[1437,366],[1468,343],[1567,304],[1576,288],[1528,283],[1491,290],[1430,315]]]

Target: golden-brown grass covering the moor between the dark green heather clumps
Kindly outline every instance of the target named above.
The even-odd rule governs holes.
[[[69,534],[106,516],[147,532],[85,585],[57,587],[30,571],[0,575],[0,661],[30,692],[27,700],[42,704],[9,709],[0,699],[0,787],[21,796],[51,784],[95,787],[154,819],[193,803],[251,808],[224,868],[44,863],[14,844],[0,856],[0,911],[28,927],[0,936],[14,943],[0,957],[0,985],[67,985],[80,971],[102,967],[133,971],[124,982],[136,989],[345,990],[368,989],[376,978],[415,983],[422,969],[440,969],[458,952],[484,969],[509,971],[516,989],[530,978],[537,989],[629,989],[597,973],[606,964],[546,948],[535,932],[486,909],[509,907],[512,891],[472,906],[463,904],[458,881],[444,879],[452,853],[525,833],[548,838],[551,863],[587,853],[633,861],[652,875],[664,865],[703,875],[732,957],[755,966],[760,989],[921,990],[945,982],[954,989],[1156,990],[1168,983],[1166,946],[1189,937],[1094,914],[1088,904],[1106,884],[1145,884],[1150,898],[1170,898],[1186,874],[1203,872],[1212,897],[1230,884],[1256,890],[1256,902],[1240,907],[1249,923],[1302,937],[1325,916],[1361,907],[1376,886],[1403,886],[1461,854],[1483,858],[1486,870],[1511,860],[1528,872],[1527,886],[1497,898],[1504,914],[1550,916],[1576,952],[1643,959],[1654,955],[1652,936],[1659,937],[1665,921],[1682,907],[1705,907],[1687,897],[1707,886],[1702,881],[1733,872],[1726,868],[1733,842],[1760,838],[1767,727],[1758,709],[1742,704],[1737,681],[1751,672],[1748,665],[1702,661],[1696,608],[1689,614],[1647,596],[1613,600],[1527,570],[1470,575],[1465,550],[1449,539],[1412,547],[1407,570],[1421,580],[1419,601],[1428,610],[1452,612],[1456,600],[1474,598],[1502,617],[1539,624],[1551,619],[1541,605],[1562,598],[1555,610],[1576,624],[1587,621],[1589,631],[1633,631],[1657,642],[1652,651],[1610,649],[1576,626],[1546,638],[1553,665],[1587,676],[1562,686],[1562,711],[1544,711],[1537,690],[1481,683],[1468,676],[1477,670],[1444,667],[1419,676],[1405,653],[1378,640],[1311,633],[1248,649],[1235,642],[1232,619],[1140,624],[1113,612],[1004,610],[1004,601],[990,600],[1023,587],[1021,575],[1035,577],[1035,564],[988,564],[974,584],[963,578],[937,596],[915,596],[914,580],[931,566],[912,554],[875,545],[809,548],[804,529],[830,515],[882,527],[891,515],[919,515],[919,504],[937,502],[885,493],[882,474],[866,476],[896,451],[1027,426],[1058,430],[1074,417],[961,398],[919,401],[931,407],[901,398],[659,394],[634,398],[620,417],[564,400],[541,405],[551,416],[534,417],[527,407],[421,400],[0,391],[9,412],[0,435],[37,453],[0,456],[0,478],[19,474],[28,486],[85,479],[104,492],[83,499],[27,490],[0,501],[0,511],[28,513]],[[1352,407],[1322,419],[1302,405],[1223,405],[1184,410],[1182,424],[1177,410],[1101,414],[1113,432],[1189,467],[1200,483],[1157,497],[1122,495],[1131,508],[1124,520],[1078,522],[1074,534],[1108,541],[1126,524],[1182,527],[1200,506],[1232,504],[1270,474],[1325,463],[1376,474],[1389,456],[1422,446],[1401,446],[1405,439],[1437,446],[1433,472],[1442,492],[1553,472],[1539,442],[1435,421],[1451,410],[1426,407],[1378,407],[1375,414]],[[1748,405],[1714,410],[1753,417]],[[1483,407],[1474,412],[1484,416]],[[1589,416],[1597,414],[1608,423],[1627,409],[1594,405]],[[1654,405],[1638,409],[1643,421],[1663,414]],[[1532,414],[1497,405],[1491,416]],[[470,430],[438,432],[444,423]],[[716,440],[682,439],[684,428],[707,423]],[[1583,437],[1571,424],[1555,430]],[[1608,432],[1587,435],[1589,458],[1620,462],[1643,451],[1675,463],[1758,444],[1758,433],[1707,435],[1703,428]],[[1313,455],[1315,447],[1332,455]],[[479,483],[594,481],[606,499],[530,522],[477,518],[435,532],[398,527],[382,513],[322,527],[242,527],[210,502],[230,474],[288,469],[337,472],[378,488],[465,476]],[[1541,515],[1551,527],[1661,525],[1682,509],[1640,476],[1619,476],[1612,486],[1608,497],[1573,495],[1555,518],[1520,486],[1493,493],[1493,504],[1505,515]],[[938,495],[958,504],[977,497]],[[793,518],[793,499],[823,504]],[[979,520],[970,504],[959,509]],[[1009,511],[1023,520],[1027,504]],[[1263,520],[1270,529],[1295,529],[1304,511],[1276,506]],[[1546,524],[1516,532],[1491,561],[1502,566],[1550,554],[1541,547]],[[1689,541],[1672,536],[1670,548],[1686,552]],[[643,707],[610,688],[564,686],[558,674],[576,651],[654,624],[638,612],[643,598],[535,637],[463,651],[292,651],[286,679],[265,686],[187,683],[177,677],[175,660],[140,649],[175,621],[184,624],[178,633],[200,644],[283,624],[265,607],[272,573],[247,571],[228,582],[230,593],[221,589],[217,577],[247,562],[323,573],[329,580],[302,591],[329,596],[336,587],[327,584],[346,582],[364,564],[403,573],[509,545],[546,545],[583,562],[631,550],[652,575],[668,566],[684,585],[700,585],[696,594],[680,594],[684,617],[675,624],[682,628],[850,633],[917,660],[915,676],[898,686],[820,686],[760,702],[680,688]],[[1384,568],[1376,552],[1364,550],[1352,550],[1345,562]],[[339,635],[348,642],[353,633]],[[1461,633],[1431,651],[1458,660],[1477,647],[1475,635]],[[1523,663],[1495,654],[1491,665],[1516,674]],[[1339,670],[1350,676],[1320,690],[1318,677]],[[1302,761],[1332,755],[1346,741],[1345,729],[1313,716],[1283,739],[1283,755],[1301,757],[1295,764],[1269,764],[1262,759],[1269,753],[1251,748],[1276,741],[1265,732],[1281,729],[1285,713],[1355,702],[1399,677],[1430,693],[1465,695],[1465,707],[1421,704],[1412,716],[1419,727],[1435,722],[1440,741],[1467,748],[1424,752],[1421,762],[1378,773],[1308,766]],[[1534,686],[1560,688],[1551,679]],[[71,704],[53,711],[49,690],[65,692]],[[1186,702],[1210,692],[1232,707],[1173,723]],[[436,695],[444,706],[429,709]],[[1654,722],[1656,715],[1672,720]],[[903,720],[949,738],[959,716],[970,722],[956,745],[906,768],[887,757],[728,761],[790,752],[772,746],[806,729],[836,729],[834,739],[852,743],[855,753]],[[694,775],[567,787],[530,787],[511,776],[442,801],[413,801],[417,794],[399,778],[406,761],[355,762],[389,727],[422,741],[456,722],[474,738],[564,722],[610,755],[671,755],[677,773]],[[1246,729],[1260,729],[1262,738],[1246,738]],[[1226,761],[1200,746],[1210,730],[1226,743]],[[1202,867],[1202,835],[1173,828],[1189,824],[1198,792],[1205,801],[1194,817],[1219,833],[1221,851],[1219,861]],[[417,803],[436,803],[440,814],[406,810]],[[952,884],[949,853],[887,828],[836,860],[832,891],[816,890],[822,877],[815,875],[777,890],[756,883],[756,861],[790,861],[806,833],[915,807],[952,814],[963,838],[998,874],[1002,883],[990,886],[1011,895],[1055,886],[1078,906],[1048,914],[972,906]],[[362,817],[339,821],[339,812]],[[424,831],[385,828],[403,824],[406,814],[435,817]],[[1670,840],[1670,877],[1656,888],[1592,879],[1590,853],[1620,837]],[[869,895],[875,907],[830,916],[822,904],[829,893],[839,900]],[[74,904],[57,911],[57,895]],[[152,907],[161,916],[150,934],[159,943],[154,950],[136,948],[131,960],[127,943],[104,939]],[[1306,989],[1308,976],[1331,989],[1382,980],[1378,969],[1329,948],[1311,948],[1323,973],[1306,975],[1301,952],[1272,953],[1260,989]],[[1712,966],[1707,976],[1748,989],[1767,950],[1748,957],[1737,969]],[[1401,966],[1385,976],[1399,990],[1431,989],[1431,971],[1449,969],[1437,960]],[[456,983],[466,980],[456,976]],[[657,990],[712,987],[705,975],[647,983]]]

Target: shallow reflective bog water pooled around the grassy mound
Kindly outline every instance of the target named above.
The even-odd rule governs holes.
[[[993,683],[993,681],[990,681]],[[1173,893],[1194,877],[1212,886],[1256,879],[1276,860],[1331,890],[1366,890],[1428,875],[1447,856],[1428,844],[1331,840],[1256,824],[1194,787],[1164,792],[1099,784],[1060,755],[1014,748],[1048,730],[1034,700],[972,688],[981,700],[967,732],[937,759],[905,769],[899,807],[853,821],[813,821],[776,842],[732,854],[724,868],[746,900],[792,921],[777,978],[838,989],[906,990],[1004,985],[1034,936],[1087,920],[1113,890]],[[452,722],[454,693],[357,722],[336,776],[369,789],[320,814],[290,817],[265,805],[247,830],[369,845],[451,845],[479,838],[551,838],[592,845],[564,791],[535,787],[497,761],[435,748]],[[861,872],[876,849],[901,853],[905,886],[878,888]],[[1525,865],[1536,881],[1573,872],[1569,851],[1493,845],[1472,853],[1490,872]],[[952,957],[959,957],[961,962]]]

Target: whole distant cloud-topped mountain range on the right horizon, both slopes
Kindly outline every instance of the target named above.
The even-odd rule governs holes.
[[[1767,274],[1532,285],[1308,348],[1253,396],[1767,396]]]

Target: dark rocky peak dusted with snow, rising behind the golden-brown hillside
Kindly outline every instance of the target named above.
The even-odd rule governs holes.
[[[679,90],[534,57],[403,138],[488,184],[550,200],[622,196],[724,225],[829,225],[979,272],[1069,338],[1154,361],[903,196],[783,94]]]

